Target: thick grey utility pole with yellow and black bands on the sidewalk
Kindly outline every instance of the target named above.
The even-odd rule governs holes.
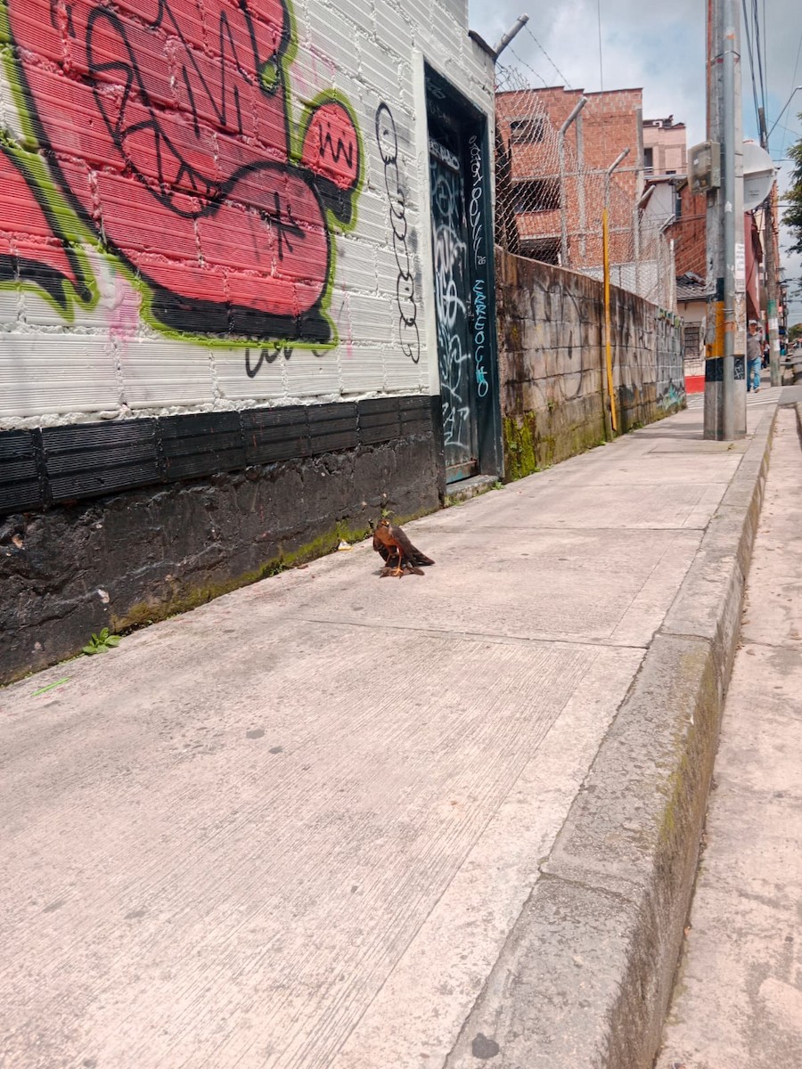
[[[708,301],[705,437],[746,433],[745,248],[740,97],[740,17],[736,0],[708,0],[708,141],[721,146],[721,186],[708,191]]]

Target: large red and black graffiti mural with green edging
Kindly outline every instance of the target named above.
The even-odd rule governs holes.
[[[91,303],[65,202],[163,330],[336,341],[333,228],[354,223],[361,146],[335,93],[292,122],[287,3],[5,4],[0,40],[15,46],[24,141],[38,153],[0,142],[3,213],[15,206],[28,243],[0,233],[0,281],[40,286],[67,317],[73,299]]]

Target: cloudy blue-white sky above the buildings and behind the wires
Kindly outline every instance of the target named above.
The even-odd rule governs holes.
[[[746,6],[752,9],[749,0]],[[527,27],[507,49],[503,62],[519,67],[533,86],[567,84],[590,92],[602,84],[604,89],[641,87],[645,118],[673,114],[676,122],[684,122],[690,148],[705,139],[706,7],[703,0],[674,0],[660,6],[645,0],[551,0],[531,6],[527,6],[526,0],[469,0],[469,22],[472,29],[495,45],[519,15],[528,14]],[[802,86],[802,14],[800,0],[760,0],[758,10],[771,128],[795,86]],[[741,50],[743,134],[756,138],[743,31]],[[786,156],[788,145],[802,137],[800,111],[802,92],[793,96],[771,135],[771,154],[781,168],[780,160]],[[785,176],[782,170],[780,175],[781,192],[787,187],[787,165],[784,170]],[[789,244],[781,231],[781,258],[786,275],[789,280],[800,279],[802,259],[782,251]],[[795,321],[802,321],[799,298],[789,317],[789,322]]]

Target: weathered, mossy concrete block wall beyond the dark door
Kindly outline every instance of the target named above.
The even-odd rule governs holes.
[[[679,320],[611,290],[620,432],[684,404]],[[521,478],[605,439],[601,282],[496,249],[505,475]]]

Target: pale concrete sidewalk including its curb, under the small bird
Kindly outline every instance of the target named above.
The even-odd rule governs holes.
[[[366,543],[0,692],[0,1066],[649,1066],[759,397],[410,525],[422,577]]]

